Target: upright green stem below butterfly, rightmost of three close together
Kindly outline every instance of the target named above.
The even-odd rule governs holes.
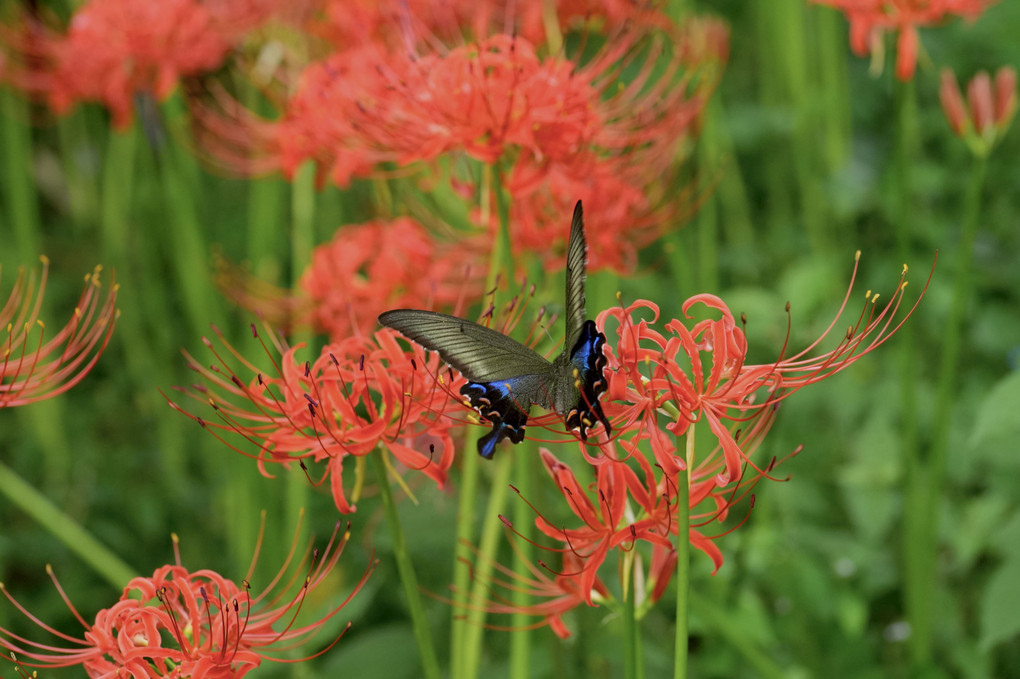
[[[514,485],[521,497],[531,497],[534,476],[534,462],[539,460],[539,446],[534,441],[525,440],[514,451]],[[534,547],[529,540],[534,538],[534,515],[527,503],[517,502],[513,507],[513,525],[522,539],[517,541],[517,558],[515,567],[523,570],[524,563],[530,563]],[[524,563],[521,563],[524,562]],[[514,589],[511,594],[513,607],[518,611],[511,617],[510,627],[510,679],[528,679],[533,672],[531,667],[531,639],[534,632],[528,629],[531,616],[524,613],[531,604],[531,597],[523,588]]]

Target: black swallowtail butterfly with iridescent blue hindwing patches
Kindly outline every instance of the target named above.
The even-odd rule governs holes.
[[[566,340],[553,361],[507,335],[463,318],[417,309],[394,309],[379,322],[425,349],[439,352],[467,378],[460,393],[493,429],[478,439],[478,454],[490,459],[504,438],[524,439],[532,405],[563,416],[567,429],[588,440],[601,422],[612,432],[599,399],[606,393],[603,355],[606,335],[584,312],[588,244],[583,210],[574,206],[567,246]]]

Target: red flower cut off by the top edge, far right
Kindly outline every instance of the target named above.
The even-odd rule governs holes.
[[[850,45],[859,56],[881,41],[882,33],[896,31],[896,74],[901,81],[914,76],[921,25],[938,24],[956,14],[976,19],[996,0],[813,0],[842,10],[850,21]]]

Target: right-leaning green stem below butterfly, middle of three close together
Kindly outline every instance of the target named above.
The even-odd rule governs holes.
[[[471,451],[470,453],[473,453]],[[467,610],[467,620],[464,629],[464,664],[461,679],[474,679],[478,675],[481,659],[481,633],[484,629],[486,611],[482,602],[488,598],[493,580],[493,565],[499,552],[499,540],[503,537],[503,522],[500,515],[506,506],[507,491],[510,484],[510,469],[518,452],[504,451],[494,463],[492,488],[489,492],[489,505],[486,507],[481,523],[481,538],[478,540],[478,559],[474,565],[474,582],[471,585],[470,605]],[[476,456],[475,456],[476,457]]]

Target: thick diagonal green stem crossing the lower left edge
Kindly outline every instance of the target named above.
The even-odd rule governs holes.
[[[135,569],[3,463],[0,463],[0,493],[66,544],[114,587],[123,587],[138,575]]]

